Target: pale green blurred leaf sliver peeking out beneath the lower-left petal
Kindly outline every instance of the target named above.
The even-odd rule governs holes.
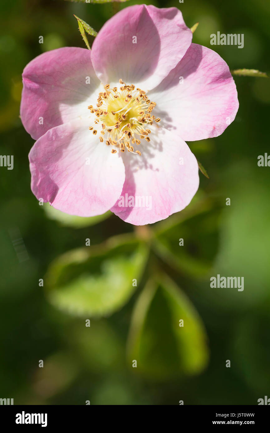
[[[53,206],[50,206],[49,203],[44,203],[43,208],[49,219],[58,221],[62,226],[73,227],[75,229],[93,226],[94,224],[98,224],[111,216],[110,210],[108,210],[106,213],[103,213],[102,215],[84,217],[69,215],[68,213],[61,212],[61,210],[57,210]]]

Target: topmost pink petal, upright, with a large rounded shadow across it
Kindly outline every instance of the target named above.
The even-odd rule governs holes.
[[[134,37],[137,43],[133,43]],[[104,24],[92,46],[92,62],[103,84],[122,78],[143,90],[153,89],[183,57],[192,41],[175,7],[135,5]]]

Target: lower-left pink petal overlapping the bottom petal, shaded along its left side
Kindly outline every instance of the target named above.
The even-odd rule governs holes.
[[[89,124],[82,120],[49,129],[29,153],[33,194],[71,215],[106,212],[125,179],[122,158],[89,131]]]

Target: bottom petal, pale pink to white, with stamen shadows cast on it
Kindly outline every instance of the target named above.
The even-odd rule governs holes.
[[[150,137],[150,143],[138,146],[141,156],[124,152],[123,198],[119,197],[111,209],[134,225],[155,223],[184,209],[199,184],[198,162],[179,136],[167,129],[156,127],[155,131],[152,127]],[[133,206],[130,197],[133,197]]]

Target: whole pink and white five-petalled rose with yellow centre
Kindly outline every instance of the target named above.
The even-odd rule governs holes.
[[[185,140],[219,136],[237,109],[228,65],[192,43],[178,9],[127,7],[91,51],[59,48],[24,69],[33,194],[72,215],[163,220],[198,189]]]

